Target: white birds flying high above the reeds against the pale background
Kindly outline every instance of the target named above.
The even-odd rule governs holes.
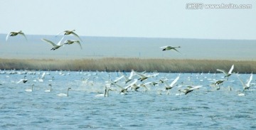
[[[70,44],[73,44],[73,43],[78,43],[78,45],[80,45],[80,48],[82,49],[82,45],[80,43],[80,41],[82,42],[82,39],[80,38],[80,36],[78,36],[77,33],[75,33],[75,30],[73,30],[73,31],[62,31],[62,32],[58,33],[57,36],[59,36],[61,33],[64,33],[63,38],[67,35],[73,35],[73,36],[77,37],[79,40],[65,40],[64,43],[62,43],[63,38],[61,38],[58,43],[53,43],[52,41],[50,41],[48,39],[45,39],[45,38],[42,38],[41,40],[43,40],[44,42],[49,43],[50,45],[53,46],[53,48],[51,48],[50,50],[56,50],[56,49],[60,48],[61,46],[65,45],[65,44],[70,45]],[[23,33],[22,31],[12,31],[12,32],[7,34],[6,41],[9,39],[9,37],[18,36],[18,35],[21,35],[24,38],[26,38],[25,33]],[[26,38],[26,40],[27,40],[27,38]],[[162,46],[160,48],[163,48],[163,51],[164,50],[175,50],[176,52],[180,53],[176,48],[181,48],[181,47],[180,46],[173,47],[173,46],[170,46],[170,45],[166,45],[166,46]]]

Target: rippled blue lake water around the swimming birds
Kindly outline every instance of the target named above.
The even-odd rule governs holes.
[[[203,85],[188,94],[178,94],[174,87],[169,94],[161,92],[164,85],[149,86],[148,91],[129,91],[119,94],[110,91],[109,97],[95,97],[104,92],[105,81],[117,77],[117,72],[42,72],[0,75],[0,129],[256,129],[256,91],[252,86],[245,97],[238,96],[242,85],[236,75],[215,90],[210,80],[222,79],[223,74],[181,74],[177,85]],[[65,75],[61,75],[65,74]],[[129,73],[127,73],[129,75]],[[150,73],[149,73],[150,74]],[[18,83],[26,75],[26,83]],[[160,73],[148,81],[176,73]],[[51,80],[52,77],[53,81]],[[249,74],[241,74],[246,81]],[[255,75],[254,75],[255,76]],[[89,78],[82,82],[82,78]],[[137,76],[134,76],[137,78]],[[190,77],[190,81],[188,80]],[[120,80],[119,85],[124,85]],[[252,80],[255,83],[255,80]],[[26,92],[34,84],[33,92]],[[48,84],[53,86],[52,92]],[[228,90],[228,86],[232,90]],[[71,87],[68,97],[58,97]],[[119,90],[118,87],[112,88]],[[183,87],[185,88],[185,87]]]

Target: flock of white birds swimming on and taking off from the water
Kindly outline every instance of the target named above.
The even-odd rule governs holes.
[[[238,94],[238,96],[245,96],[245,92],[247,90],[249,90],[250,87],[252,87],[252,85],[255,85],[255,83],[252,83],[253,75],[250,74],[249,79],[245,83],[244,81],[242,81],[240,79],[238,73],[232,72],[233,68],[234,68],[234,65],[232,65],[229,72],[225,72],[225,70],[217,69],[218,71],[223,72],[224,76],[221,80],[216,80],[215,78],[210,79],[210,82],[212,82],[212,83],[210,83],[209,86],[213,87],[212,90],[220,90],[220,85],[223,85],[224,82],[228,82],[228,77],[230,77],[231,75],[236,75],[236,77],[238,77],[238,80],[240,80],[240,82],[241,82],[241,90],[242,90],[242,91],[239,90],[237,92],[237,94]],[[25,90],[26,92],[33,92],[33,87],[35,87],[36,82],[44,82],[46,75],[50,75],[50,72],[43,72],[43,73],[40,73],[40,77],[38,76],[37,78],[33,77],[31,79],[27,79],[26,75],[28,75],[28,71],[23,71],[23,72],[11,71],[8,74],[10,75],[10,74],[17,74],[17,73],[21,74],[21,75],[25,75],[25,76],[21,80],[16,82],[16,84],[20,84],[20,83],[25,84],[27,82],[30,82],[28,84],[32,84],[31,89]],[[6,74],[6,72],[0,71],[0,74]],[[35,72],[33,72],[32,74],[36,75]],[[193,85],[193,84],[192,85],[184,85],[184,83],[182,83],[182,82],[179,83],[178,85],[176,85],[178,80],[181,77],[181,74],[178,74],[177,77],[173,80],[170,80],[167,77],[159,78],[158,77],[159,72],[154,72],[149,75],[146,72],[136,72],[136,71],[132,70],[128,76],[124,72],[118,72],[118,74],[119,75],[117,77],[108,77],[108,79],[105,78],[105,85],[97,84],[97,82],[95,82],[95,81],[89,81],[89,77],[87,77],[86,79],[81,78],[80,82],[85,83],[88,86],[93,86],[95,84],[95,85],[101,85],[102,88],[104,87],[104,90],[100,90],[102,93],[96,94],[95,97],[109,97],[110,92],[113,92],[113,91],[115,91],[116,93],[119,93],[119,94],[129,94],[130,91],[139,92],[143,89],[144,92],[148,92],[151,90],[150,89],[151,87],[156,87],[156,86],[161,87],[161,89],[159,89],[159,91],[157,92],[158,94],[169,94],[170,91],[173,91],[174,87],[177,87],[178,93],[176,93],[176,95],[179,96],[182,94],[188,94],[190,92],[193,92],[194,90],[199,90],[201,87],[203,87],[203,85]],[[59,75],[65,75],[65,74],[63,72],[60,72]],[[213,74],[213,75],[215,75],[215,74]],[[96,75],[90,74],[90,77],[94,79],[95,77],[97,77],[97,74]],[[52,77],[52,79],[50,79],[48,81],[53,81],[53,80],[54,80],[54,78]],[[149,82],[146,82],[147,80],[149,80]],[[154,81],[152,81],[152,80],[154,80]],[[45,92],[52,92],[53,91],[52,84],[49,84],[48,86],[50,88],[48,90],[45,90]],[[142,89],[140,89],[140,88],[142,88]],[[233,88],[230,86],[226,87],[226,89],[229,91],[233,90]],[[67,87],[66,93],[60,93],[60,94],[57,94],[57,96],[68,97],[69,90],[71,90],[71,87]]]

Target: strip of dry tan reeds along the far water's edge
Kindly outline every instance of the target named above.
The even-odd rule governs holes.
[[[141,58],[99,58],[82,60],[52,59],[1,59],[1,70],[99,70],[99,71],[130,71],[142,72],[217,72],[216,69],[233,72],[256,72],[256,61],[251,60],[176,60],[176,59],[141,59]]]

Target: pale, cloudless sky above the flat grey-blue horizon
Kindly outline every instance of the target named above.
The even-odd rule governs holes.
[[[255,0],[1,0],[0,33],[149,38],[256,39]],[[186,9],[188,3],[251,9]]]

